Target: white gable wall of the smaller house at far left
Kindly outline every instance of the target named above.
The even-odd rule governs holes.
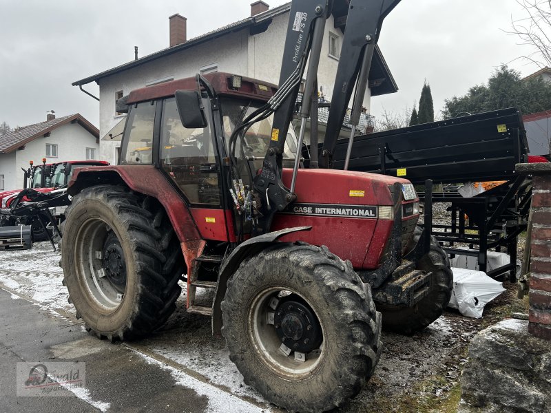
[[[56,158],[46,156],[47,143],[57,145]],[[99,145],[96,143],[96,137],[78,123],[67,123],[54,129],[48,137],[36,138],[25,145],[22,151],[15,151],[16,187],[21,187],[23,183],[21,168],[27,169],[30,160],[34,165],[40,165],[42,158],[46,158],[46,163],[86,160],[86,148],[95,148],[96,159],[98,159]]]

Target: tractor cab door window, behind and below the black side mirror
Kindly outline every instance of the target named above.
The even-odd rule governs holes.
[[[208,105],[205,101],[205,107]],[[220,205],[218,159],[210,125],[185,128],[176,99],[168,98],[163,105],[160,136],[160,163],[189,202]]]

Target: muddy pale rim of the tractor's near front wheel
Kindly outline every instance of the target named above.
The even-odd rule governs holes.
[[[319,317],[302,295],[289,288],[271,287],[256,295],[247,327],[264,365],[282,377],[303,379],[324,359]]]

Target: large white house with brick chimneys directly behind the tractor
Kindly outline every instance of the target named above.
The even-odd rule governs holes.
[[[340,6],[339,6],[340,7]],[[340,56],[340,45],[348,9],[335,5],[326,22],[323,52],[318,70],[318,87],[326,98],[333,93],[333,79]],[[73,83],[83,87],[99,85],[100,132],[105,136],[124,115],[117,114],[117,98],[139,87],[155,85],[177,78],[210,72],[229,72],[278,84],[289,10],[287,3],[269,9],[267,3],[251,4],[251,16],[213,32],[187,40],[187,19],[174,14],[169,17],[169,47],[105,72]],[[369,76],[370,90],[364,107],[369,111],[371,96],[397,92],[397,86],[377,47]],[[120,142],[101,141],[101,158],[116,162]]]

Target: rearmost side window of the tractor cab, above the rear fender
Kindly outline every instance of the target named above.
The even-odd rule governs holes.
[[[153,161],[153,128],[155,122],[156,102],[138,103],[128,114],[125,129],[125,153],[122,164],[141,165]]]

